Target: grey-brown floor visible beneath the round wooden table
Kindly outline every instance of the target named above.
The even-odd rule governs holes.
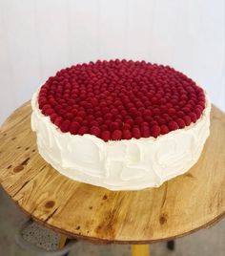
[[[0,188],[0,255],[35,256],[29,250],[20,248],[14,242],[14,232],[27,217],[11,202]],[[70,256],[129,256],[130,245],[92,245],[78,242]],[[202,229],[192,235],[175,240],[175,250],[169,251],[165,243],[151,245],[153,256],[225,256],[225,220],[209,229]]]

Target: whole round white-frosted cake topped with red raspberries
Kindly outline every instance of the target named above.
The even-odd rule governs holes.
[[[110,60],[51,76],[32,96],[40,155],[75,181],[155,187],[187,172],[210,133],[211,103],[169,66]]]

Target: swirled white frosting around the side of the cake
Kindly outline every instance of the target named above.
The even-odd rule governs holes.
[[[200,157],[210,134],[211,103],[206,95],[202,116],[184,129],[158,138],[105,142],[92,135],[62,133],[45,117],[32,96],[31,129],[40,155],[61,174],[75,181],[111,190],[156,187],[187,172]]]

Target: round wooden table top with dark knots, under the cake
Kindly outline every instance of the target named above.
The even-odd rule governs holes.
[[[225,115],[213,107],[211,136],[186,174],[159,188],[110,191],[72,181],[43,160],[24,104],[0,132],[0,181],[35,221],[97,243],[149,244],[207,227],[225,215]]]

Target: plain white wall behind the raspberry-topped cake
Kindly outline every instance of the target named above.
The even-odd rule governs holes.
[[[0,0],[0,123],[60,68],[170,64],[225,110],[223,0]]]

